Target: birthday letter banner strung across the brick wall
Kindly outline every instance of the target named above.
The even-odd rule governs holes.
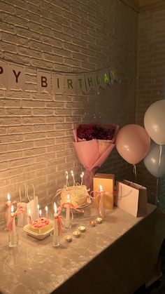
[[[98,72],[66,74],[36,69],[38,93],[89,93],[105,89],[118,81],[115,69],[106,68]],[[0,84],[3,88],[26,90],[25,67],[0,60]]]

